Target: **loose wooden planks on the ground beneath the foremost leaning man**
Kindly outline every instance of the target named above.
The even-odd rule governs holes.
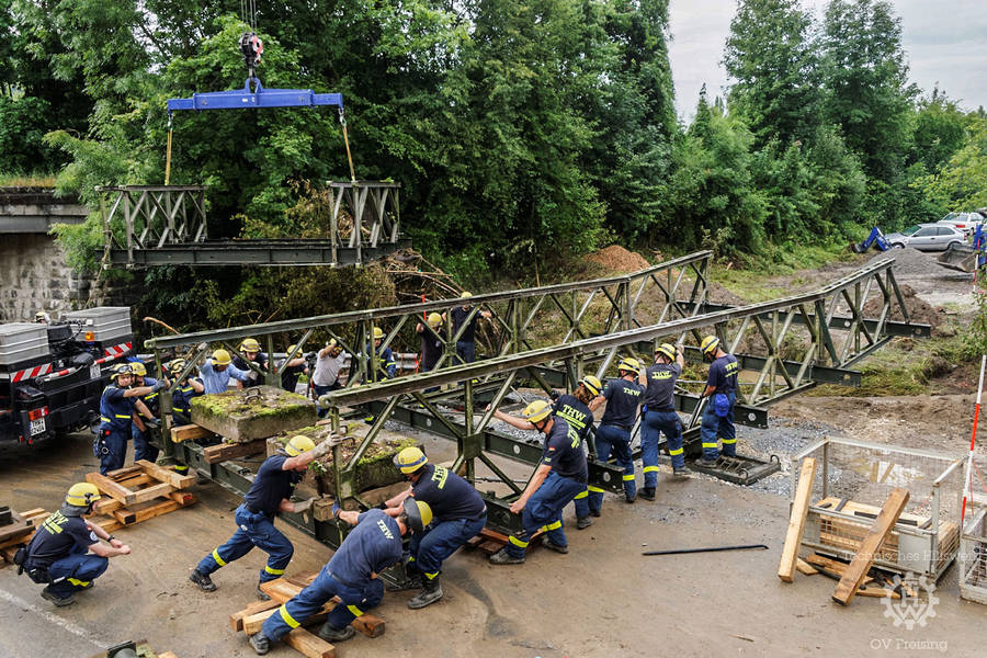
[[[264,620],[274,614],[288,599],[292,599],[304,588],[311,585],[317,575],[286,576],[264,582],[261,585],[261,590],[271,597],[271,600],[257,601],[243,610],[231,614],[229,617],[230,627],[234,631],[242,631],[246,635],[258,633],[263,626]],[[304,623],[324,622],[326,615],[333,608],[336,608],[336,602],[327,602],[319,612],[308,617]],[[367,637],[378,637],[385,631],[384,621],[372,614],[363,614],[353,620],[350,625]],[[336,647],[302,626],[285,635],[283,642],[308,658],[336,658]]]

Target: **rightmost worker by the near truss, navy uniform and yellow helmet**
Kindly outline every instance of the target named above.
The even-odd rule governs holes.
[[[703,422],[700,436],[703,442],[703,456],[696,462],[700,466],[715,466],[719,458],[717,438],[723,440],[723,456],[737,454],[737,431],[734,428],[734,407],[737,404],[737,374],[740,364],[737,358],[728,354],[715,336],[707,336],[700,343],[703,359],[710,364],[710,375],[703,397],[706,408],[703,409]]]

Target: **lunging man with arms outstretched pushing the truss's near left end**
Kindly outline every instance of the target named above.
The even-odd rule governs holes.
[[[284,568],[295,552],[288,538],[274,527],[274,514],[300,512],[304,507],[310,507],[310,501],[292,502],[292,492],[295,485],[305,477],[308,465],[329,454],[331,450],[328,439],[315,445],[308,436],[298,435],[293,436],[276,454],[264,460],[243,504],[234,514],[237,532],[225,544],[202,558],[189,579],[203,591],[212,592],[216,585],[209,574],[243,557],[257,546],[269,555],[268,564],[260,572],[257,595],[262,601],[269,600],[270,597],[260,589],[261,583],[283,576]]]

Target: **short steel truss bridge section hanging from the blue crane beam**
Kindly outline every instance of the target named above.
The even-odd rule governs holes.
[[[359,265],[410,246],[400,237],[400,184],[329,182],[325,239],[209,239],[202,185],[97,188],[103,268]]]

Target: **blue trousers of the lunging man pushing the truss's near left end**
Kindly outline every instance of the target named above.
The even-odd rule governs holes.
[[[209,575],[219,567],[240,559],[257,546],[269,555],[268,564],[261,569],[260,581],[281,578],[284,568],[292,560],[295,547],[280,530],[274,527],[274,520],[266,514],[251,512],[246,504],[237,508],[234,519],[239,526],[237,532],[225,544],[202,558],[195,567],[198,572]]]

